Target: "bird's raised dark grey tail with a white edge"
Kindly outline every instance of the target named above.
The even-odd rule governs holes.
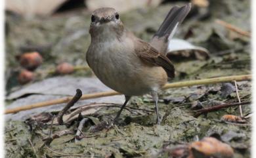
[[[191,3],[184,5],[182,7],[173,7],[163,20],[158,31],[156,31],[154,37],[150,41],[153,47],[158,49],[160,52],[165,53],[167,50],[167,45],[169,39],[173,37],[177,31],[178,26],[184,20],[186,15],[191,9]]]

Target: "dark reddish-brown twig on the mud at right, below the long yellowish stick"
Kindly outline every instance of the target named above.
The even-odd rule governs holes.
[[[211,111],[217,111],[219,109],[223,109],[223,108],[229,108],[229,107],[232,107],[232,106],[244,106],[244,105],[247,105],[247,104],[251,104],[251,102],[236,102],[236,103],[226,103],[226,104],[221,104],[221,105],[218,105],[218,106],[213,106],[213,107],[210,107],[210,108],[204,108],[204,109],[198,109],[194,112],[196,112],[196,114],[194,115],[194,117],[198,117],[200,115],[202,115],[202,113],[209,113]]]

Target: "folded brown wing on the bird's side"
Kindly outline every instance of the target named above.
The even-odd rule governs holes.
[[[165,69],[168,77],[175,77],[175,68],[171,63],[171,60],[161,52],[158,52],[158,50],[154,49],[149,43],[139,40],[137,42],[137,47],[135,48],[135,52],[142,61],[152,66],[161,66]]]

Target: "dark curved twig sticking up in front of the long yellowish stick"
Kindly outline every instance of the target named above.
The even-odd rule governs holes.
[[[68,104],[62,109],[62,111],[58,113],[58,125],[63,124],[63,119],[62,119],[63,115],[66,113],[66,111],[68,111],[68,109],[74,106],[74,104],[79,100],[79,98],[81,98],[81,96],[82,96],[82,91],[80,89],[77,89],[74,98],[72,98],[72,100],[68,102]]]

